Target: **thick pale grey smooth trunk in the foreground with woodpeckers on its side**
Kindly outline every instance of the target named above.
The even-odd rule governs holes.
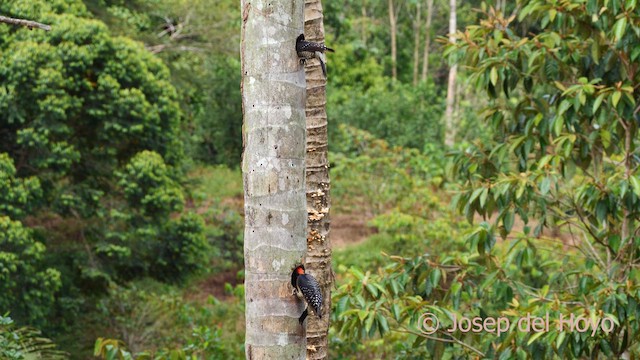
[[[304,359],[305,79],[295,52],[303,0],[242,0],[242,176],[247,359]]]

